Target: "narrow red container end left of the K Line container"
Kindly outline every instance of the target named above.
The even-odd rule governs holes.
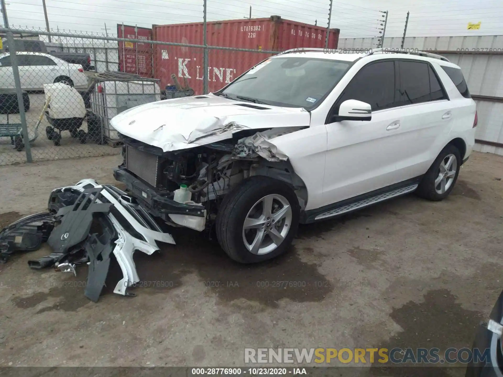
[[[152,29],[117,24],[117,37],[127,39],[152,40]],[[152,44],[135,42],[119,43],[119,71],[152,77]]]

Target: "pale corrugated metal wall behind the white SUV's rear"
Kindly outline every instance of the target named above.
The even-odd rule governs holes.
[[[401,38],[384,38],[384,48],[400,48]],[[340,39],[339,48],[376,48],[377,38]],[[475,150],[503,155],[503,35],[406,37],[404,48],[438,52],[463,70],[477,103]],[[449,52],[447,52],[449,51]]]

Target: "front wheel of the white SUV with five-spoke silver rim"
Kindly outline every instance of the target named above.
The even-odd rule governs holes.
[[[270,220],[264,216],[264,204],[271,203]],[[288,207],[289,206],[289,210]],[[285,211],[281,211],[286,208]],[[278,214],[280,226],[272,221]],[[282,213],[283,216],[279,217]],[[266,176],[255,176],[240,182],[234,190],[224,197],[216,219],[217,239],[222,249],[239,263],[258,263],[275,258],[287,251],[299,225],[300,206],[297,196],[286,183]],[[257,220],[258,227],[244,231],[245,219]],[[262,221],[263,220],[263,221]],[[250,223],[251,224],[251,223]],[[264,228],[262,227],[264,226]],[[260,249],[252,253],[259,232],[264,232]],[[280,241],[276,235],[281,234]],[[275,235],[276,243],[272,236]],[[246,244],[245,244],[246,241]],[[248,248],[247,248],[247,246]],[[263,246],[262,246],[263,245]],[[257,249],[257,248],[256,248]]]

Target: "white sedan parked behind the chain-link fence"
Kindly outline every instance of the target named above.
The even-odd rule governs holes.
[[[17,52],[19,78],[23,90],[44,90],[44,84],[63,82],[85,89],[88,79],[80,64],[70,64],[40,52]],[[0,54],[0,88],[15,88],[11,55]]]

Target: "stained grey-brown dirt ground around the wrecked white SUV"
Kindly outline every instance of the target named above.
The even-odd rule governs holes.
[[[113,183],[118,162],[0,167],[0,225],[44,210],[55,187]],[[112,294],[117,266],[92,303],[86,267],[76,278],[30,270],[47,247],[16,255],[0,265],[0,366],[232,366],[243,365],[244,347],[471,346],[501,291],[501,178],[503,157],[474,152],[447,200],[410,195],[300,226],[286,255],[259,265],[233,263],[214,241],[174,229],[177,245],[135,254],[140,278],[159,284],[132,289],[134,298]]]

